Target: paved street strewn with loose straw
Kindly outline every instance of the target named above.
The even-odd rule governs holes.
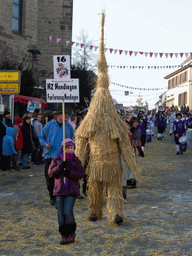
[[[157,131],[156,131],[157,134]],[[127,190],[119,226],[88,221],[88,200],[76,201],[74,244],[60,245],[57,211],[49,204],[44,165],[0,175],[0,255],[192,255],[192,147],[176,155],[174,136],[157,135],[137,158],[144,182]]]

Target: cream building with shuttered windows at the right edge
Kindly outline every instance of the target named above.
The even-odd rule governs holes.
[[[179,109],[182,105],[189,107],[192,111],[192,58],[188,57],[182,64],[181,68],[170,73],[164,79],[167,79],[167,91],[160,96],[156,103],[156,108],[162,105],[163,108],[177,106]]]

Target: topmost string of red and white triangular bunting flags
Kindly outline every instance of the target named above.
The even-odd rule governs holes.
[[[48,42],[53,42],[56,41],[57,44],[59,42],[61,42],[61,45],[66,43],[66,45],[71,45],[74,47],[78,47],[80,46],[81,48],[90,48],[91,50],[94,49],[95,51],[98,50],[98,46],[94,46],[94,45],[84,45],[78,42],[72,42],[72,41],[68,41],[62,38],[56,38],[54,36],[48,36]],[[154,56],[154,58],[157,58],[157,56],[159,56],[160,58],[162,58],[163,56],[165,56],[166,58],[170,57],[173,58],[175,56],[175,58],[177,58],[178,56],[180,56],[180,58],[183,58],[183,56],[185,56],[186,58],[190,55],[192,57],[192,52],[135,52],[135,51],[127,51],[127,50],[120,50],[120,49],[114,49],[114,48],[104,48],[104,52],[110,52],[111,54],[114,52],[114,55],[118,52],[119,55],[122,56],[122,53],[124,52],[124,55],[126,56],[140,56],[143,55],[144,57],[149,56],[150,58],[152,58]]]

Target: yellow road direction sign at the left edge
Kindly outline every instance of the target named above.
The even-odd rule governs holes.
[[[18,70],[0,71],[0,93],[18,94],[21,84],[21,72]]]

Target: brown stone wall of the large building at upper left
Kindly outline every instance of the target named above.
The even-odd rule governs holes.
[[[71,55],[71,45],[48,42],[48,36],[72,37],[72,0],[23,1],[22,35],[12,32],[12,0],[0,1],[0,62],[9,58],[31,68],[31,53],[38,49],[38,71],[47,70],[53,77],[53,55]]]

